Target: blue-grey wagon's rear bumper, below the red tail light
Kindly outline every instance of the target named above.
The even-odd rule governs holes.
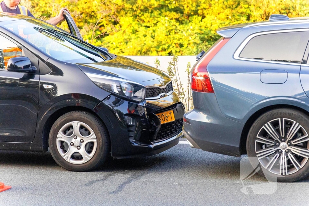
[[[184,115],[184,136],[190,146],[209,152],[240,156],[243,123],[222,115],[213,93],[193,92],[194,109]]]

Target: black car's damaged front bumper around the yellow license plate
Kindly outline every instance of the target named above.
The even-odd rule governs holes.
[[[174,111],[175,121],[161,125],[155,114],[169,110]],[[183,137],[184,107],[175,92],[140,104],[110,95],[93,111],[108,129],[115,158],[157,154],[175,146]],[[128,117],[135,120],[134,125],[127,124]]]

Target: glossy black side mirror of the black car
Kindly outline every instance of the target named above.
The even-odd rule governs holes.
[[[36,68],[31,66],[28,57],[13,57],[7,63],[7,70],[11,72],[33,73],[36,71]]]

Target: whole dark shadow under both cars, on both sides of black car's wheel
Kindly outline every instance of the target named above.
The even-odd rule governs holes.
[[[214,177],[217,179],[239,179],[240,158],[226,155],[208,153],[197,149],[182,149],[188,145],[178,145],[163,153],[129,159],[113,159],[109,157],[104,165],[90,172],[102,173],[140,173],[146,171],[147,174],[155,172],[185,172],[195,177]],[[193,152],[191,152],[193,151]],[[53,160],[50,152],[33,153],[22,151],[0,151],[1,166],[29,166],[45,167],[50,170],[62,170]],[[57,169],[56,169],[57,168]],[[112,175],[110,174],[110,175]]]

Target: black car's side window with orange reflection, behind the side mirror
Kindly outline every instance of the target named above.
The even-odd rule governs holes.
[[[0,35],[0,69],[6,69],[7,62],[19,56],[23,56],[22,48]]]

